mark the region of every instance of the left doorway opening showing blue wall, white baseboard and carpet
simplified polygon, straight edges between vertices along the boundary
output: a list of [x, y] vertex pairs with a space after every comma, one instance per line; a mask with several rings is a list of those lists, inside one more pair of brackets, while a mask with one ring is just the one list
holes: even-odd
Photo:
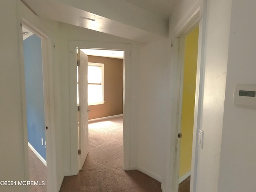
[[44, 88], [41, 38], [22, 28], [26, 90], [29, 173], [31, 181], [41, 185], [30, 186], [30, 191], [47, 191], [46, 136], [44, 118]]

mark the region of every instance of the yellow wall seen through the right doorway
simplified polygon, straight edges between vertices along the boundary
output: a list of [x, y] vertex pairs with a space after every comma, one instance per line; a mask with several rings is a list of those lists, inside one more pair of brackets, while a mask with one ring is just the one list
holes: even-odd
[[179, 178], [191, 170], [198, 30], [199, 27], [185, 38]]

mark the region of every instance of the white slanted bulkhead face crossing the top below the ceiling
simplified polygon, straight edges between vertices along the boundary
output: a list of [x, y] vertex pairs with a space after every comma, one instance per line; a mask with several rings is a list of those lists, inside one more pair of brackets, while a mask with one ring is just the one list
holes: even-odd
[[[119, 22], [137, 29], [151, 32], [163, 37], [168, 36], [168, 21], [156, 14], [152, 14], [125, 0], [56, 0], [65, 5], [79, 8], [97, 14], [115, 22]], [[131, 14], [132, 13], [132, 14]], [[97, 17], [96, 17], [97, 20]], [[102, 24], [105, 26], [105, 24]], [[108, 23], [112, 25], [111, 22]], [[104, 27], [104, 32], [111, 33], [111, 28]], [[121, 30], [121, 26], [119, 29]], [[106, 30], [108, 29], [108, 30]], [[97, 30], [97, 29], [96, 29]], [[98, 29], [99, 30], [99, 29]], [[132, 28], [130, 29], [132, 30]], [[113, 33], [112, 33], [113, 34]]]

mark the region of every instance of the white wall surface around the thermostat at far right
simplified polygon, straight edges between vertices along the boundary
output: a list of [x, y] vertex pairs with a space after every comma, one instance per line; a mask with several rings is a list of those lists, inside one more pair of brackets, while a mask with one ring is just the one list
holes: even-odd
[[256, 84], [254, 0], [232, 1], [218, 192], [255, 191], [256, 110], [234, 106], [236, 84]]

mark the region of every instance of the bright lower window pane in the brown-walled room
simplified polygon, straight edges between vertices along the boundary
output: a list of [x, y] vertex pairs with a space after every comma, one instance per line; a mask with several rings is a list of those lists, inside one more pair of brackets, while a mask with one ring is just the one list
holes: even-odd
[[88, 84], [88, 103], [101, 102], [102, 99], [102, 86]]

